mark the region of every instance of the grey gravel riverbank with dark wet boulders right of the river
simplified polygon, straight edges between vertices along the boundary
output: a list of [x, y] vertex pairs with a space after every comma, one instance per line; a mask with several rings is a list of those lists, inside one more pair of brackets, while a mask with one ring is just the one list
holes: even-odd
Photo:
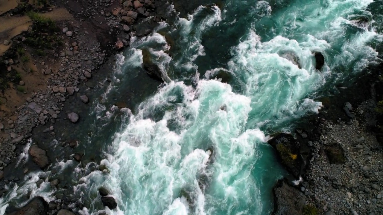
[[383, 214], [383, 145], [372, 129], [380, 124], [379, 68], [322, 99], [320, 113], [298, 124], [305, 129], [270, 140], [285, 144], [287, 152], [275, 148], [290, 173], [275, 185], [274, 214]]

